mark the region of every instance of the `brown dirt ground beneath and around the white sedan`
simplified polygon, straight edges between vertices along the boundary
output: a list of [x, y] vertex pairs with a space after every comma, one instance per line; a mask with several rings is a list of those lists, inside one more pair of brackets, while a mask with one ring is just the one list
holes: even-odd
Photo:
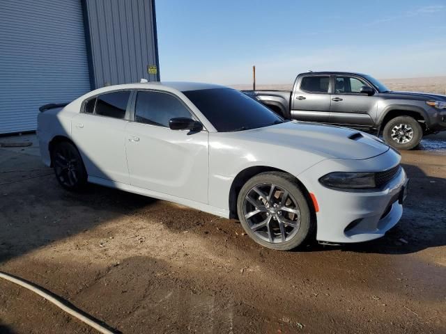
[[[36, 145], [0, 148], [0, 271], [122, 333], [446, 333], [445, 137], [403, 152], [403, 166], [410, 192], [385, 237], [283, 253], [238, 221], [64, 191]], [[0, 333], [94, 331], [0, 280]]]

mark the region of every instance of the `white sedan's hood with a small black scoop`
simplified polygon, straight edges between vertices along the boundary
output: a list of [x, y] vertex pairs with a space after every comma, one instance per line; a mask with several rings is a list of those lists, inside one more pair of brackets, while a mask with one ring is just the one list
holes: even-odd
[[385, 143], [364, 132], [295, 120], [238, 134], [255, 142], [287, 146], [327, 159], [368, 159], [389, 150]]

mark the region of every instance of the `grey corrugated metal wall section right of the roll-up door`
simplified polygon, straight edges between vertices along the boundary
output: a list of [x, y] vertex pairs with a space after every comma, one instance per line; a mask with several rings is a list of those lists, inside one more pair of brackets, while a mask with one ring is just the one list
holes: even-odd
[[93, 86], [138, 82], [158, 65], [153, 0], [84, 0], [88, 17]]

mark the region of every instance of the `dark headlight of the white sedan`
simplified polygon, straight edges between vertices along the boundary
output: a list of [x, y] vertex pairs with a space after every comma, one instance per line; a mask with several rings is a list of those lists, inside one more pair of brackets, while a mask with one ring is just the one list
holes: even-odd
[[319, 179], [324, 186], [332, 188], [375, 188], [375, 173], [334, 172]]

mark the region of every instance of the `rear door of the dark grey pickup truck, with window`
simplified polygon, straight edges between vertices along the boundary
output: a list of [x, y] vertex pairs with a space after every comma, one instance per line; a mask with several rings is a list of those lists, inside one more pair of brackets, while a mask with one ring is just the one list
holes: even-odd
[[291, 95], [291, 118], [328, 122], [330, 103], [330, 75], [304, 75]]

